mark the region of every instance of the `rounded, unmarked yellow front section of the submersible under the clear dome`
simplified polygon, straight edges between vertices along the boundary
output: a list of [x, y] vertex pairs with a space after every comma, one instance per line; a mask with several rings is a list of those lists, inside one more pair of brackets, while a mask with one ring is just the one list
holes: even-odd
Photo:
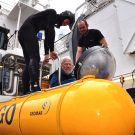
[[60, 120], [64, 135], [134, 135], [135, 106], [119, 85], [86, 80], [66, 94]]

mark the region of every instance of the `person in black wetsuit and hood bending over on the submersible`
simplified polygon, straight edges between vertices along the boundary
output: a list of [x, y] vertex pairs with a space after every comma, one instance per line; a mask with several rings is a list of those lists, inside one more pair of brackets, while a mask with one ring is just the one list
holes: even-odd
[[[57, 58], [57, 53], [54, 51], [54, 40], [55, 40], [55, 27], [69, 25], [71, 28], [74, 23], [74, 14], [70, 11], [64, 11], [60, 14], [54, 9], [47, 9], [45, 11], [34, 14], [23, 23], [19, 32], [18, 40], [22, 46], [25, 68], [23, 72], [23, 94], [30, 91], [39, 91], [39, 45], [37, 33], [40, 30], [45, 31], [45, 57], [44, 64], [47, 64], [49, 57], [51, 59]], [[49, 54], [50, 52], [50, 54]]]

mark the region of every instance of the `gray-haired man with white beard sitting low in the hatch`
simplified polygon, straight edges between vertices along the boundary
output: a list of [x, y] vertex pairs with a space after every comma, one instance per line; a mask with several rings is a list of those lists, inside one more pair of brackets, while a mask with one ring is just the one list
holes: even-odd
[[[73, 73], [73, 63], [69, 56], [65, 56], [61, 60], [61, 84], [70, 83], [76, 80], [74, 73]], [[53, 74], [51, 74], [50, 80], [50, 87], [55, 87], [60, 85], [59, 78], [58, 78], [58, 70], [56, 70]]]

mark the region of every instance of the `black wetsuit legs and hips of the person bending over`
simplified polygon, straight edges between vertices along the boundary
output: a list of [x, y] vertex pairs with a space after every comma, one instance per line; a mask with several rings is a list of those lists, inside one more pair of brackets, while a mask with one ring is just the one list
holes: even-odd
[[29, 91], [30, 85], [39, 84], [39, 44], [37, 34], [31, 24], [25, 24], [18, 32], [18, 40], [23, 49], [25, 67], [22, 82], [24, 93]]

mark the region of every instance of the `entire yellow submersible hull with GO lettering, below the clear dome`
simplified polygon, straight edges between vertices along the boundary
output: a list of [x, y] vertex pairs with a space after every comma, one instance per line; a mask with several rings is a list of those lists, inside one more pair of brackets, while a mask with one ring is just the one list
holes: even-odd
[[[134, 135], [134, 103], [111, 81], [87, 76], [50, 91], [0, 103], [0, 120], [3, 111], [13, 104], [13, 121], [10, 126], [5, 120], [0, 123], [0, 135]], [[1, 111], [5, 105], [7, 109]]]

